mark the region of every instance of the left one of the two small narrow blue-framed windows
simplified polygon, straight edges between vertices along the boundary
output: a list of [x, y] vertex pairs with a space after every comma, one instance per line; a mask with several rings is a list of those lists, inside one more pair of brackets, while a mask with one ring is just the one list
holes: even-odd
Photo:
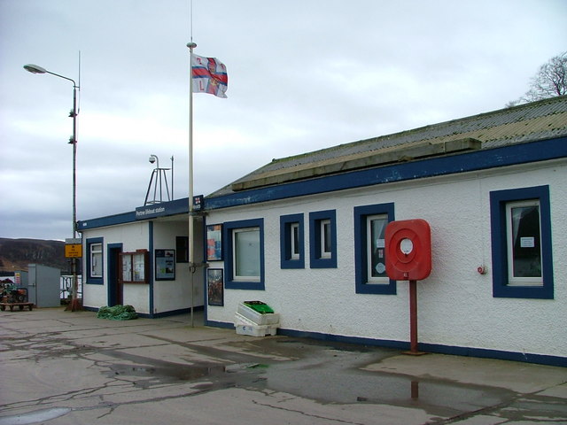
[[280, 217], [280, 264], [282, 268], [305, 268], [303, 214]]

